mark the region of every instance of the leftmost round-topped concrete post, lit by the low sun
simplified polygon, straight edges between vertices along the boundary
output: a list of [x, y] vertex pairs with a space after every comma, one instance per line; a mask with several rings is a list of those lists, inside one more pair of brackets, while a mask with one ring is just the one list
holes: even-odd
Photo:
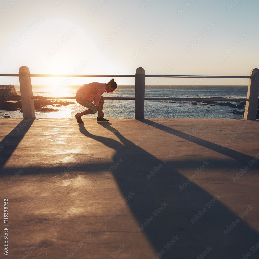
[[24, 119], [35, 119], [34, 100], [32, 99], [32, 83], [30, 77], [30, 69], [22, 66], [19, 69], [19, 81], [21, 91], [21, 107], [23, 109]]

